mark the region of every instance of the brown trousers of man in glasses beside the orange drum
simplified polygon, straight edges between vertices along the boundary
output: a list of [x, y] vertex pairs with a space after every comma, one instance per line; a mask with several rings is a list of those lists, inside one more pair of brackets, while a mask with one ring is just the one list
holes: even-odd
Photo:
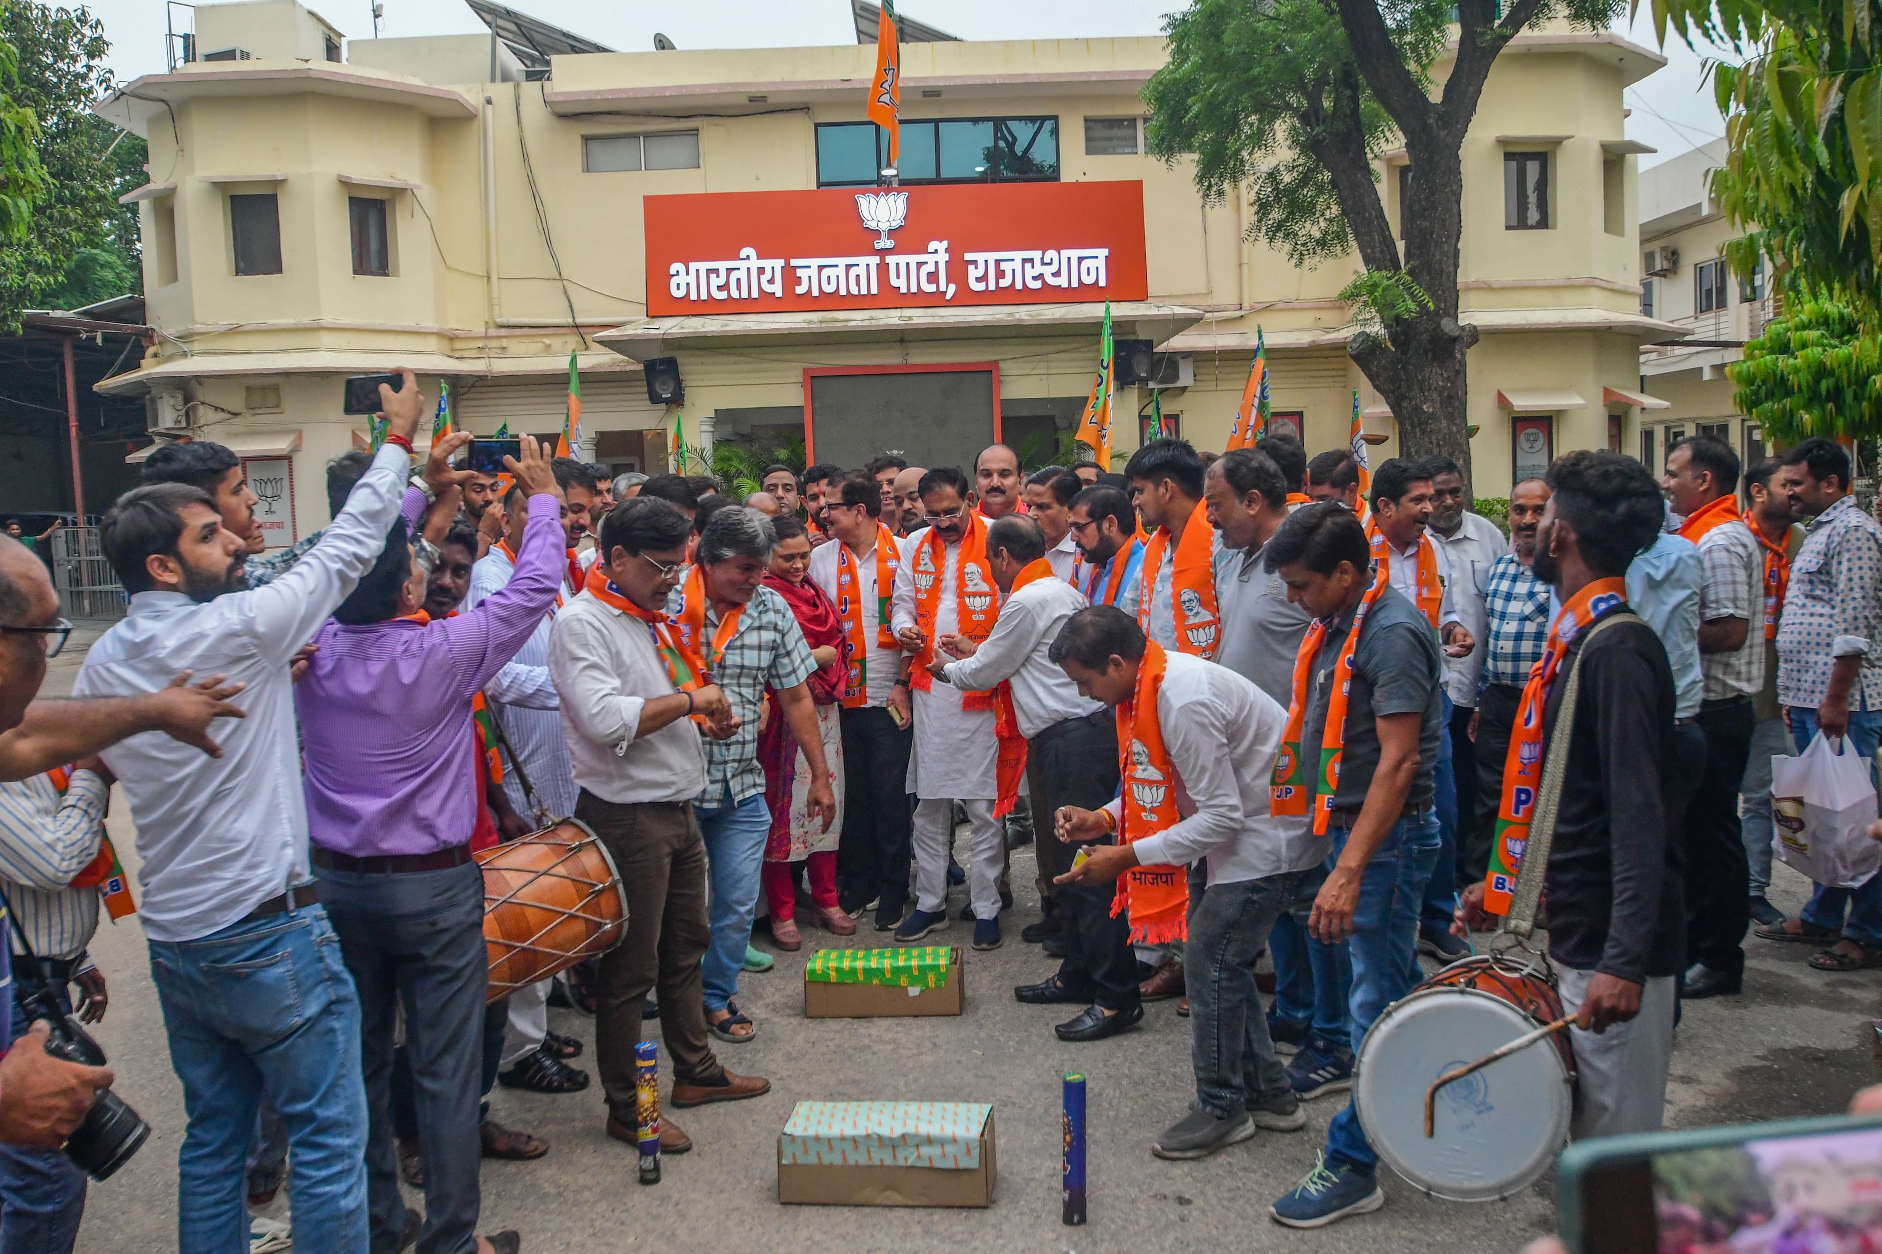
[[706, 921], [706, 844], [693, 805], [617, 805], [587, 790], [576, 818], [595, 829], [627, 891], [627, 936], [602, 955], [595, 987], [595, 1070], [610, 1111], [634, 1121], [634, 1045], [640, 1010], [661, 993], [661, 1034], [676, 1083], [721, 1083], [725, 1068], [706, 1034], [700, 959], [711, 940]]

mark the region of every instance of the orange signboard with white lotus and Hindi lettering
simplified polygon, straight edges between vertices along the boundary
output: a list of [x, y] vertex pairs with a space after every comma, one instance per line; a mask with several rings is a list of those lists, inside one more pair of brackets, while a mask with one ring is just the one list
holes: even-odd
[[647, 314], [1142, 301], [1142, 182], [646, 197]]

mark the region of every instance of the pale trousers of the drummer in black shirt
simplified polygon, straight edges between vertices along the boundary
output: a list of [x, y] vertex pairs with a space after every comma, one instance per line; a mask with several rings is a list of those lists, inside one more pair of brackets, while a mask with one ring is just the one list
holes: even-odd
[[[1562, 1013], [1581, 1010], [1592, 970], [1556, 966]], [[1590, 1136], [1658, 1132], [1666, 1119], [1666, 1074], [1673, 1064], [1673, 978], [1654, 976], [1641, 989], [1641, 1013], [1609, 1023], [1602, 1034], [1570, 1028], [1575, 1049], [1577, 1141]]]

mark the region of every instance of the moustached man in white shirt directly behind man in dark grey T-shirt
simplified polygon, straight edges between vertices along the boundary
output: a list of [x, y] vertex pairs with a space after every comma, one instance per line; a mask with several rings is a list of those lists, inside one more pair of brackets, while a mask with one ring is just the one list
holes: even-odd
[[[1419, 607], [1438, 630], [1443, 643], [1445, 688], [1449, 667], [1477, 651], [1475, 635], [1464, 626], [1457, 609], [1457, 579], [1445, 545], [1430, 536], [1432, 462], [1393, 457], [1372, 472], [1372, 538], [1374, 566], [1385, 564], [1391, 585]], [[1383, 540], [1383, 547], [1381, 541]], [[1479, 600], [1481, 607], [1481, 600]], [[1470, 957], [1470, 946], [1451, 934], [1451, 914], [1457, 910], [1457, 773], [1451, 760], [1451, 698], [1445, 692], [1438, 729], [1438, 865], [1425, 882], [1425, 904], [1419, 912], [1417, 944], [1440, 963]]]

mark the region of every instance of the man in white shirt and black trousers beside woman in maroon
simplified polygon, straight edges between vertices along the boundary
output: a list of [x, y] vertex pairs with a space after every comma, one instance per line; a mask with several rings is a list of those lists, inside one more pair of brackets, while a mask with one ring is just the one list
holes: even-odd
[[[881, 523], [875, 479], [851, 476], [824, 508], [839, 543], [811, 549], [811, 579], [843, 619], [860, 684], [845, 692], [843, 837], [837, 844], [837, 906], [862, 914], [875, 902], [875, 931], [901, 923], [909, 902], [915, 810], [909, 805], [909, 752], [915, 728], [901, 643], [885, 613], [896, 590], [905, 541]], [[881, 579], [881, 575], [888, 575]], [[860, 647], [858, 647], [860, 641]]]

